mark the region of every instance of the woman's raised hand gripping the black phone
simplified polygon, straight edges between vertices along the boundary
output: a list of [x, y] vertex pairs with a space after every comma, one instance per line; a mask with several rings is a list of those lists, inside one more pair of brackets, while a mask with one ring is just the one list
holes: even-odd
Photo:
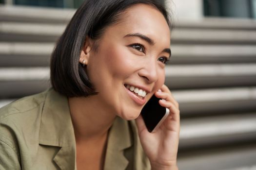
[[179, 108], [171, 91], [163, 85], [161, 92], [155, 93], [159, 104], [167, 107], [170, 114], [155, 133], [149, 133], [141, 115], [136, 119], [141, 145], [148, 156], [152, 170], [177, 170], [177, 150], [179, 140]]

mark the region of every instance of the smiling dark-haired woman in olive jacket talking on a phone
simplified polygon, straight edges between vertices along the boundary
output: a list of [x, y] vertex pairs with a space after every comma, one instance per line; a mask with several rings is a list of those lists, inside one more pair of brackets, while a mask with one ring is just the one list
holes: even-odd
[[[169, 27], [155, 0], [85, 0], [52, 54], [53, 88], [0, 109], [0, 169], [177, 170]], [[149, 133], [154, 94], [170, 116]]]

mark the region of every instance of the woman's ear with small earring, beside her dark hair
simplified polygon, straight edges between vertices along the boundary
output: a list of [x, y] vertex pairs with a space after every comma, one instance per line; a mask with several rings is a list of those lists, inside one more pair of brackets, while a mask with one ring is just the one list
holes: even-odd
[[92, 40], [86, 36], [83, 49], [80, 53], [79, 63], [87, 65], [90, 58], [90, 51], [92, 50]]

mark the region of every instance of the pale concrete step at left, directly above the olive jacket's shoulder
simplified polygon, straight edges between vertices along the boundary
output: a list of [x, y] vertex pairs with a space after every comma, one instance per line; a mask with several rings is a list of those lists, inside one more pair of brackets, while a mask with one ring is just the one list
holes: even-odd
[[0, 68], [0, 99], [20, 98], [50, 87], [49, 68]]

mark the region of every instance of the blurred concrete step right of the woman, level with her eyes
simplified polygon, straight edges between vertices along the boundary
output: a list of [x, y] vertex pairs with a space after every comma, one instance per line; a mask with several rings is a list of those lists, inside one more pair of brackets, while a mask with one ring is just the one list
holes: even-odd
[[170, 64], [256, 63], [256, 45], [173, 45]]

